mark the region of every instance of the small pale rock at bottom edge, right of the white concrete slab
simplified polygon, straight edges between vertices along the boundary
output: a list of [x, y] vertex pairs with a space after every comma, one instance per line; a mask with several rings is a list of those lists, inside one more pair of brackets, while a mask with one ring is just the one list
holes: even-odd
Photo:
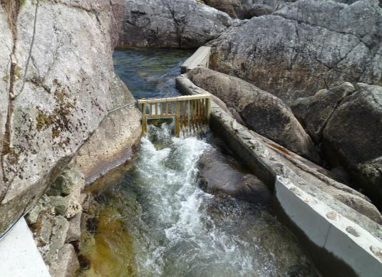
[[80, 269], [76, 251], [73, 245], [64, 244], [58, 251], [57, 261], [49, 268], [52, 277], [73, 277], [77, 276]]

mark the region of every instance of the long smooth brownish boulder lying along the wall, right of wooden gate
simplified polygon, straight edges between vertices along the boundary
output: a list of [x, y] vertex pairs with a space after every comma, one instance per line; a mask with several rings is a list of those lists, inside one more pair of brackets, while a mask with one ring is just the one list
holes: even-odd
[[234, 108], [252, 130], [310, 160], [319, 160], [309, 135], [279, 98], [244, 80], [207, 68], [195, 68], [187, 75], [195, 85]]

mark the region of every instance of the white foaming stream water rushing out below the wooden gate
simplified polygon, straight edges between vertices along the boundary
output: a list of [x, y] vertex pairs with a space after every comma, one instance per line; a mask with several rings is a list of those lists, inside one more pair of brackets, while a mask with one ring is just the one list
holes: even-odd
[[[173, 137], [172, 129], [150, 125], [135, 167], [105, 192], [106, 206], [118, 211], [132, 238], [133, 275], [316, 276], [269, 211], [200, 189], [198, 160], [212, 145], [198, 137]], [[120, 239], [110, 243], [114, 234], [104, 235], [114, 257], [130, 255]], [[130, 276], [123, 267], [127, 261], [122, 258], [113, 271]]]

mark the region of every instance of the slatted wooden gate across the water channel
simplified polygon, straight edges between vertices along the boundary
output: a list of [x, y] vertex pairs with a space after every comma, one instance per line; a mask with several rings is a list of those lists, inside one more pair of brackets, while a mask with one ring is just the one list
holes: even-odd
[[184, 127], [199, 128], [210, 123], [211, 95], [186, 95], [174, 98], [140, 99], [142, 105], [142, 135], [147, 132], [147, 120], [175, 118], [175, 136]]

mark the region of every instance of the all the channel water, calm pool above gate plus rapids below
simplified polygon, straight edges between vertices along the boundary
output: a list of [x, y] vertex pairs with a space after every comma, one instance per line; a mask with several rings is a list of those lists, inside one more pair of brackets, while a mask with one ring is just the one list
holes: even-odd
[[[187, 56], [120, 51], [115, 70], [136, 97], [163, 96], [166, 85], [174, 94]], [[89, 187], [98, 220], [81, 241], [83, 276], [319, 276], [269, 207], [200, 189], [198, 160], [217, 147], [212, 134], [177, 138], [171, 130], [150, 125], [134, 162]]]

